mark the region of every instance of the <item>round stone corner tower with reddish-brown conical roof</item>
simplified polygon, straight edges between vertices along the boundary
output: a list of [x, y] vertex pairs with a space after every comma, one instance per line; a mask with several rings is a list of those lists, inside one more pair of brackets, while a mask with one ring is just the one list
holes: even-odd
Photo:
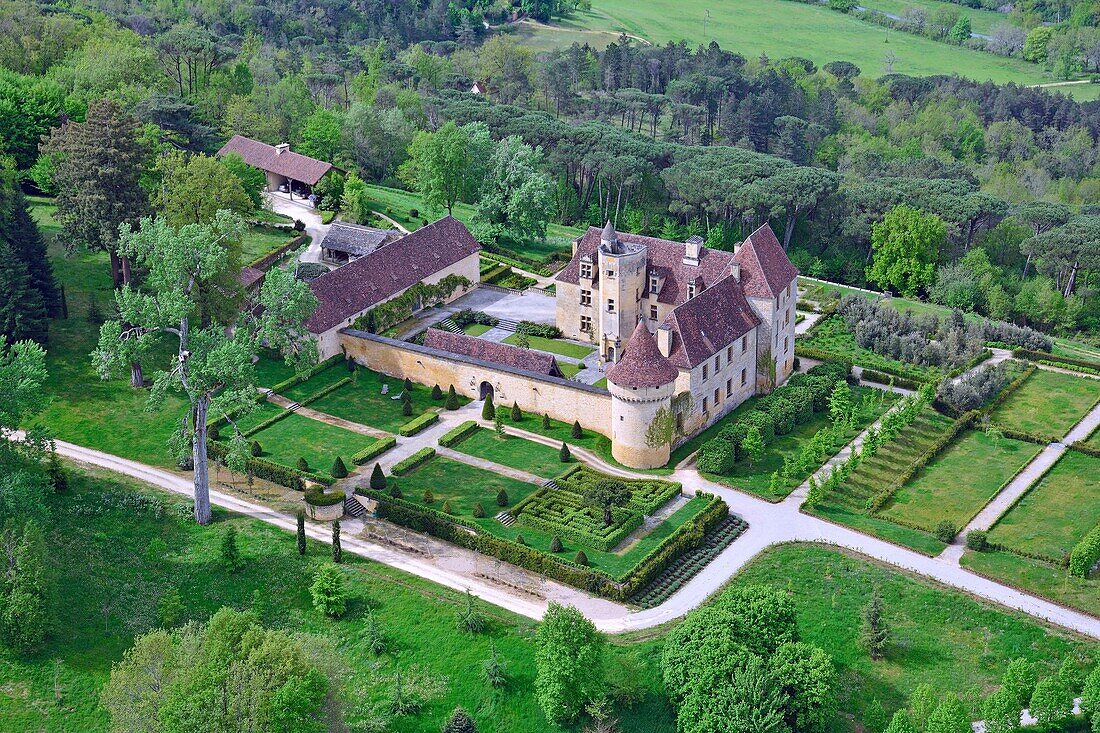
[[661, 354], [645, 320], [639, 320], [622, 358], [607, 370], [615, 460], [644, 469], [669, 462], [669, 441], [654, 438], [660, 434], [658, 424], [662, 419], [671, 426], [678, 374], [676, 368]]

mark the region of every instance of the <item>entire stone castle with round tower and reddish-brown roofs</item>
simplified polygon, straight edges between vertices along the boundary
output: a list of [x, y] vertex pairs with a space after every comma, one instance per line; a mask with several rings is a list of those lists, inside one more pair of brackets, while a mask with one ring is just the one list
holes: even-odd
[[733, 252], [610, 222], [573, 243], [557, 324], [608, 365], [616, 460], [663, 466], [678, 439], [791, 374], [798, 274], [768, 225]]

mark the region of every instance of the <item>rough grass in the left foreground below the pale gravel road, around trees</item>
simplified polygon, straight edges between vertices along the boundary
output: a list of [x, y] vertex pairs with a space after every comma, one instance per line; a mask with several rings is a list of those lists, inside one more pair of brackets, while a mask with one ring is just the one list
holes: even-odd
[[[74, 472], [70, 491], [53, 500], [54, 511], [66, 516], [74, 503], [98, 507], [105, 493], [133, 491], [169, 503], [182, 501], [114, 474]], [[230, 526], [239, 533], [245, 560], [237, 573], [224, 570], [220, 555]], [[134, 636], [161, 625], [157, 602], [167, 588], [182, 597], [182, 622], [204, 622], [223, 605], [252, 608], [257, 593], [266, 625], [331, 644], [336, 661], [344, 667], [341, 683], [353, 701], [364, 705], [387, 704], [398, 668], [406, 680], [414, 675], [439, 680], [440, 696], [420, 712], [398, 719], [395, 731], [438, 733], [440, 721], [457, 705], [474, 714], [479, 730], [563, 730], [546, 722], [535, 699], [535, 623], [481, 604], [490, 615], [490, 632], [464, 634], [454, 621], [464, 603], [458, 591], [344, 553], [351, 610], [343, 620], [329, 621], [314, 610], [309, 597], [312, 573], [329, 561], [328, 545], [310, 540], [301, 557], [293, 533], [217, 508], [209, 527], [172, 516], [157, 519], [151, 512], [109, 508], [79, 522], [52, 524], [48, 541], [56, 550], [52, 557], [64, 591], [65, 623], [34, 656], [0, 655], [0, 689], [7, 692], [0, 694], [3, 730], [107, 733], [100, 688]], [[369, 611], [391, 647], [380, 657], [369, 652], [365, 642]], [[455, 674], [480, 670], [491, 644], [508, 669], [509, 686], [502, 692], [492, 690], [480, 672]], [[672, 710], [660, 692], [659, 649], [660, 639], [607, 649], [608, 665], [626, 664], [636, 670], [644, 690], [639, 704], [616, 711], [624, 730], [675, 730]], [[351, 714], [349, 723], [361, 722]]]

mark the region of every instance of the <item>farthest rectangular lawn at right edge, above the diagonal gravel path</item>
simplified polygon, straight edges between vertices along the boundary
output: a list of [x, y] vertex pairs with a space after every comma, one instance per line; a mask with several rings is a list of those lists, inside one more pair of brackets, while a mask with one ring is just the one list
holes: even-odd
[[1013, 430], [1062, 438], [1100, 400], [1100, 380], [1036, 370], [993, 411], [992, 419]]

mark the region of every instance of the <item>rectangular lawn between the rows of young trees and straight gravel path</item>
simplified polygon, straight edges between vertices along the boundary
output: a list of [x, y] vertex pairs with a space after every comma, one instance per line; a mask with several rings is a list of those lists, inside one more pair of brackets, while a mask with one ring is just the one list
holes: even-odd
[[944, 519], [964, 527], [1040, 450], [1032, 442], [993, 440], [969, 430], [894, 492], [879, 514], [928, 530]]

